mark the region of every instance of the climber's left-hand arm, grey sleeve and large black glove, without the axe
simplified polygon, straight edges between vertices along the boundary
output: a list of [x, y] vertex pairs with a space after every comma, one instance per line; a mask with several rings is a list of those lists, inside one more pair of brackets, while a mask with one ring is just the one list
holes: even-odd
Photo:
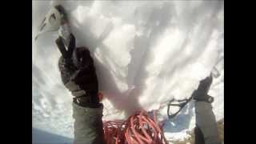
[[102, 104], [98, 100], [98, 79], [93, 59], [86, 48], [75, 48], [75, 39], [70, 34], [67, 50], [62, 36], [56, 40], [62, 53], [58, 67], [62, 82], [73, 98], [74, 143], [102, 144]]

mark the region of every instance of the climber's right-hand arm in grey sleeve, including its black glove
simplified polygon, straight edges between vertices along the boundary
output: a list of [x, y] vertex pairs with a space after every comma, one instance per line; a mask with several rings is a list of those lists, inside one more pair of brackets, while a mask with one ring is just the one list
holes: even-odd
[[196, 114], [195, 144], [220, 144], [217, 122], [211, 106], [213, 98], [207, 94], [211, 82], [212, 76], [202, 80], [198, 90], [193, 93]]

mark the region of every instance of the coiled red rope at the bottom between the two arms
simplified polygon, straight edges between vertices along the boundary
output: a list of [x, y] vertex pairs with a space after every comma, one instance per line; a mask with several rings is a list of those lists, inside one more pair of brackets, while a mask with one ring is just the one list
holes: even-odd
[[106, 144], [164, 144], [168, 143], [162, 124], [158, 124], [146, 111], [135, 112], [126, 121], [103, 122]]

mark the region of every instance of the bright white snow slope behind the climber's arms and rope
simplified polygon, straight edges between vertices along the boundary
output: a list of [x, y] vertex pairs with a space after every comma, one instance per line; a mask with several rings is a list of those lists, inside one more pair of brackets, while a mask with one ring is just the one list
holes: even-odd
[[[224, 4], [222, 1], [33, 1], [33, 126], [73, 138], [71, 94], [58, 72], [57, 33], [34, 36], [51, 4], [70, 14], [77, 46], [94, 58], [104, 119], [124, 119], [134, 110], [158, 110], [186, 98], [216, 66], [210, 94], [214, 114], [224, 118]], [[217, 65], [216, 65], [217, 64]], [[186, 138], [194, 127], [194, 103], [166, 120], [169, 139]]]

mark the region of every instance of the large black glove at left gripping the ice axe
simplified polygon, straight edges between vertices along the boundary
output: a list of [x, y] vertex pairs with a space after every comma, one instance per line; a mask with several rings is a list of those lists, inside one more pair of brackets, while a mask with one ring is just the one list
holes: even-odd
[[74, 48], [75, 39], [72, 34], [68, 50], [65, 49], [61, 37], [56, 40], [56, 44], [62, 53], [58, 61], [62, 82], [71, 91], [74, 102], [79, 106], [100, 106], [98, 78], [90, 51], [85, 47]]

